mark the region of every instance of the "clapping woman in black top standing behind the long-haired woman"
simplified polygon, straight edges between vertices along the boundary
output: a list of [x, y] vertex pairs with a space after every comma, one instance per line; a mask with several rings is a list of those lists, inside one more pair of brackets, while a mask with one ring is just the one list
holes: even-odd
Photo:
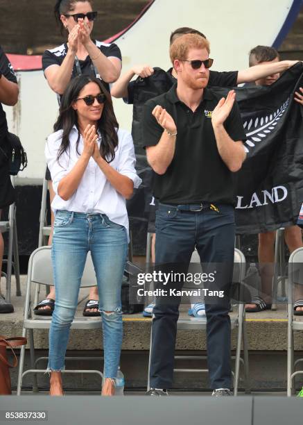
[[[122, 57], [119, 47], [114, 43], [104, 43], [92, 38], [92, 31], [98, 12], [93, 9], [92, 0], [57, 0], [55, 1], [55, 19], [62, 35], [67, 41], [53, 49], [47, 49], [42, 56], [42, 68], [47, 83], [58, 95], [67, 88], [69, 81], [77, 75], [100, 76], [105, 89], [110, 91], [109, 83], [120, 76]], [[101, 24], [102, 25], [102, 24]], [[55, 197], [51, 174], [46, 169], [45, 178], [49, 185], [51, 202]], [[51, 234], [53, 238], [53, 213], [51, 214]], [[55, 306], [55, 290], [51, 287], [46, 299], [35, 306], [35, 315], [49, 316]], [[89, 299], [85, 303], [84, 316], [98, 316], [98, 291], [92, 287]]]

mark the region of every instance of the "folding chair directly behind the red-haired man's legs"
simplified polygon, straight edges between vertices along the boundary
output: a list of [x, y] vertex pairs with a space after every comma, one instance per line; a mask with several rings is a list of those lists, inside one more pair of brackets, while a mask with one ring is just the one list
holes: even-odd
[[[245, 277], [245, 257], [239, 249], [234, 249], [234, 263], [237, 267], [234, 267], [234, 278], [235, 282], [242, 282]], [[206, 331], [207, 320], [206, 317], [199, 318], [180, 318], [177, 323], [177, 330], [184, 331]], [[237, 343], [236, 343], [236, 356], [232, 357], [235, 360], [234, 372], [232, 372], [234, 377], [234, 395], [238, 394], [239, 387], [239, 372], [240, 372], [240, 363], [244, 367], [244, 376], [245, 376], [245, 392], [250, 393], [249, 383], [248, 383], [248, 339], [246, 334], [246, 324], [245, 324], [245, 308], [243, 303], [239, 303], [238, 314], [236, 317], [231, 318], [231, 327], [232, 329], [237, 328]], [[150, 351], [148, 359], [148, 385], [147, 389], [150, 390], [150, 357], [152, 351], [152, 328], [150, 330]], [[241, 342], [243, 342], [243, 358], [241, 358]], [[206, 356], [175, 356], [176, 360], [206, 360]], [[208, 369], [173, 369], [174, 372], [208, 372]]]

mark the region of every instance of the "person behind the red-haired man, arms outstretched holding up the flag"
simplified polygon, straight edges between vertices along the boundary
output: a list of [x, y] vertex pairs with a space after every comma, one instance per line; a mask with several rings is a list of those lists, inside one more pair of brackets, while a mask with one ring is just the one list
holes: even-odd
[[[205, 38], [205, 35], [200, 31], [189, 28], [181, 27], [175, 29], [171, 33], [169, 44], [171, 44], [184, 34], [198, 34]], [[247, 69], [241, 69], [240, 71], [230, 72], [209, 72], [208, 86], [218, 86], [225, 88], [235, 87], [237, 84], [247, 83], [249, 81], [255, 81], [263, 76], [275, 74], [275, 72], [283, 72], [292, 65], [296, 60], [283, 60], [279, 63], [271, 63], [264, 67], [256, 65]], [[137, 76], [133, 81], [132, 78]], [[139, 174], [142, 172], [143, 185], [146, 186], [146, 203], [147, 210], [149, 213], [148, 217], [148, 232], [155, 233], [155, 210], [157, 209], [157, 201], [149, 193], [150, 181], [153, 179], [153, 174], [146, 172], [146, 158], [144, 152], [144, 138], [142, 135], [141, 117], [144, 107], [144, 103], [153, 97], [159, 96], [159, 94], [167, 92], [173, 84], [176, 83], [177, 74], [175, 69], [172, 67], [168, 71], [164, 71], [159, 67], [151, 67], [150, 65], [134, 65], [125, 74], [119, 77], [111, 88], [111, 94], [116, 98], [123, 98], [125, 103], [133, 104], [133, 116], [132, 116], [132, 138], [135, 144], [135, 152], [137, 156], [137, 170]], [[155, 238], [153, 238], [153, 247], [151, 251], [152, 263], [155, 260]], [[202, 300], [200, 300], [202, 301]], [[144, 308], [144, 316], [152, 317], [154, 303], [150, 303]], [[193, 313], [195, 312], [195, 313]], [[191, 313], [198, 317], [200, 314], [205, 313], [204, 304], [191, 303]]]

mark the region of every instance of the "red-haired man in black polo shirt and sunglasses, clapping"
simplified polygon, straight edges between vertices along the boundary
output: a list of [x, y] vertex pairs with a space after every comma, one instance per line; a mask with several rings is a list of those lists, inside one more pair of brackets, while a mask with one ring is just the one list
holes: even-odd
[[[230, 299], [234, 265], [232, 172], [245, 159], [245, 133], [235, 93], [220, 99], [207, 89], [209, 42], [196, 34], [173, 42], [171, 61], [178, 86], [144, 106], [148, 163], [155, 171], [155, 262], [187, 267], [196, 247], [203, 263], [220, 265], [216, 289], [225, 297], [207, 299], [207, 351], [215, 396], [230, 395]], [[150, 395], [166, 395], [173, 381], [178, 303], [158, 299], [153, 310]]]

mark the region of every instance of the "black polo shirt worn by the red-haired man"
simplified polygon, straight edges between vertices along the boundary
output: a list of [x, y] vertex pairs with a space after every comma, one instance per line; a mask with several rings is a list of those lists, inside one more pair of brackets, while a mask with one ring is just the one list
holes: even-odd
[[[205, 89], [203, 98], [193, 113], [178, 99], [176, 85], [167, 93], [150, 99], [144, 106], [143, 134], [146, 147], [155, 146], [163, 133], [152, 115], [161, 105], [173, 117], [177, 126], [175, 155], [166, 173], [155, 173], [154, 196], [162, 203], [227, 203], [234, 204], [232, 172], [221, 159], [211, 125], [220, 94]], [[234, 141], [245, 140], [237, 103], [225, 121], [225, 129]]]

